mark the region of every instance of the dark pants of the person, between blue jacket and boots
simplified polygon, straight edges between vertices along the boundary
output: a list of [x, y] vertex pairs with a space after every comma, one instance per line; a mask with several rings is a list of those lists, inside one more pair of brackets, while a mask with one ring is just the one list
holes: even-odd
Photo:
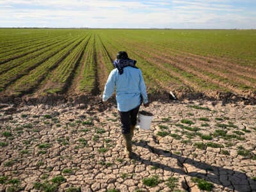
[[136, 125], [139, 109], [140, 106], [126, 112], [119, 111], [122, 134], [129, 134], [131, 125]]

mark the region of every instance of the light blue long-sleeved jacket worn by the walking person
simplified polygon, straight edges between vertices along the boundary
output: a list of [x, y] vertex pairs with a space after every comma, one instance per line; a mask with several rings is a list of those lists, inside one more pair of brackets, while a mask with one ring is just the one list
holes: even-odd
[[148, 102], [145, 82], [139, 68], [125, 67], [122, 75], [117, 68], [113, 69], [108, 76], [102, 100], [108, 100], [115, 88], [118, 111], [130, 111], [138, 107], [141, 102], [140, 95], [144, 104]]

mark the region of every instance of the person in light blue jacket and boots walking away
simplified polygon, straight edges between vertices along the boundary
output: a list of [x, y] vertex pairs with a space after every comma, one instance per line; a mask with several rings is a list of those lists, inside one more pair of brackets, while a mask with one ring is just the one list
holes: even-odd
[[148, 97], [145, 82], [136, 61], [128, 57], [127, 52], [120, 51], [113, 62], [114, 69], [106, 82], [102, 101], [106, 102], [116, 90], [117, 108], [121, 120], [121, 131], [124, 138], [125, 154], [132, 157], [131, 140], [141, 103], [147, 108]]

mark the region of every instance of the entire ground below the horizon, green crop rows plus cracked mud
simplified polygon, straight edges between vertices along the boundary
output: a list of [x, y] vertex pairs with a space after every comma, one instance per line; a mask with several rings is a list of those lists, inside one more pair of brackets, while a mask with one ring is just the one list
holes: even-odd
[[[99, 97], [118, 51], [154, 114], [132, 159]], [[0, 29], [0, 191], [256, 191], [255, 53], [255, 30]]]

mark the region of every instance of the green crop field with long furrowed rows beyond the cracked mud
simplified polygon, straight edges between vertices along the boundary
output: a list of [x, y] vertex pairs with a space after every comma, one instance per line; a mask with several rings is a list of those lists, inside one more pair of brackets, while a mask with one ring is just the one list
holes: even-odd
[[255, 30], [0, 29], [0, 40], [3, 102], [99, 95], [118, 51], [154, 97], [255, 99]]

